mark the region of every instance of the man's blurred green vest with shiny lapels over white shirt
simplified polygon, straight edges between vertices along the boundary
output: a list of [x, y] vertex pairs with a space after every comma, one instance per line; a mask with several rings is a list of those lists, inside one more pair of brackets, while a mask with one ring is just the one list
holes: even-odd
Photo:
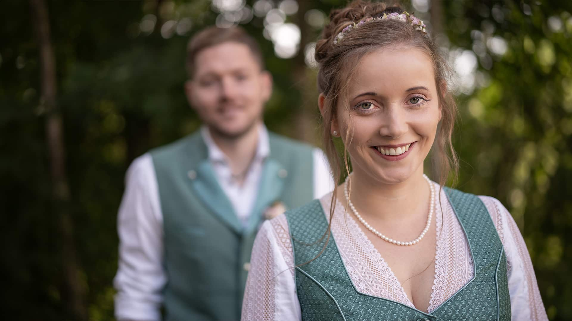
[[164, 229], [165, 320], [239, 320], [263, 211], [313, 198], [312, 147], [269, 133], [247, 227], [217, 182], [200, 133], [151, 151]]

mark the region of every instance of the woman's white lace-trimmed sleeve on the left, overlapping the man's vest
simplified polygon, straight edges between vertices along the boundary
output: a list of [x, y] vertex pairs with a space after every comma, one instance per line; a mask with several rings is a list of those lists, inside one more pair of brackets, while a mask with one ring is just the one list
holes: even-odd
[[301, 320], [286, 216], [264, 222], [252, 248], [241, 320]]

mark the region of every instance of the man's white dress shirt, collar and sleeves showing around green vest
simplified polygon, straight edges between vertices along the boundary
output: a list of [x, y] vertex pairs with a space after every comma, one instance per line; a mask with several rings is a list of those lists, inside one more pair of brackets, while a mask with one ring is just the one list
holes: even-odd
[[[256, 200], [264, 160], [270, 154], [268, 131], [260, 126], [256, 154], [240, 186], [233, 181], [227, 157], [206, 127], [201, 128], [201, 135], [217, 180], [245, 224]], [[333, 180], [324, 153], [316, 148], [312, 156], [313, 197], [320, 198], [333, 190]], [[117, 289], [115, 316], [119, 320], [160, 320], [162, 290], [167, 281], [163, 267], [163, 216], [149, 153], [133, 160], [125, 184], [117, 222], [120, 246], [113, 280]]]

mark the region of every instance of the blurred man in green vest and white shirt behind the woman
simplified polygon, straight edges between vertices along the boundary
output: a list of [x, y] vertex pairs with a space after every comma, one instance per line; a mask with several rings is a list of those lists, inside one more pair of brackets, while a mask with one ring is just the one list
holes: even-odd
[[[118, 217], [119, 320], [238, 320], [264, 219], [333, 188], [319, 149], [268, 133], [256, 41], [211, 27], [191, 39], [185, 92], [204, 125], [134, 160]], [[275, 213], [275, 214], [272, 214]], [[266, 215], [265, 215], [266, 214]]]

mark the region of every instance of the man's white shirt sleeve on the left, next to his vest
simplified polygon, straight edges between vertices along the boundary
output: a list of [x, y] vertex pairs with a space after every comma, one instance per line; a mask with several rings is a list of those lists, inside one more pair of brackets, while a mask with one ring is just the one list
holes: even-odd
[[117, 219], [119, 260], [113, 284], [118, 320], [155, 321], [166, 276], [163, 262], [162, 214], [150, 154], [133, 161]]

